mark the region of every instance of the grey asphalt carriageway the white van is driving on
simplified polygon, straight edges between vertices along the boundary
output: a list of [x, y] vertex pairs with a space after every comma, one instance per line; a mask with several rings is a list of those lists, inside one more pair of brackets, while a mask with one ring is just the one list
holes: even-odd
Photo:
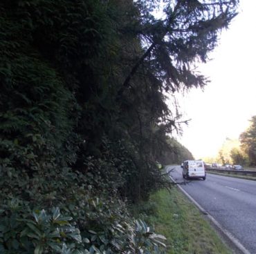
[[[170, 173], [183, 182], [182, 168]], [[208, 173], [181, 186], [203, 209], [234, 235], [250, 253], [256, 253], [256, 182]]]

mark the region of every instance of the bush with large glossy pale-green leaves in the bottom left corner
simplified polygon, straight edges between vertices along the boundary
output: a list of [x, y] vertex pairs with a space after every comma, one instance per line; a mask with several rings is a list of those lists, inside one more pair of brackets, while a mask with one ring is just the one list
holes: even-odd
[[68, 253], [75, 243], [82, 243], [80, 231], [73, 226], [71, 217], [63, 217], [59, 208], [53, 208], [51, 215], [46, 211], [29, 213], [21, 211], [17, 201], [12, 199], [1, 213], [1, 253]]

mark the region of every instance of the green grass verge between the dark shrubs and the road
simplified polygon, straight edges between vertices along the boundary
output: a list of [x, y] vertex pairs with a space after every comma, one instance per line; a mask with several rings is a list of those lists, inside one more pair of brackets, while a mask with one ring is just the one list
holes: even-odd
[[146, 217], [156, 232], [167, 237], [168, 254], [232, 253], [221, 242], [199, 210], [176, 188], [152, 195], [148, 204], [154, 211]]

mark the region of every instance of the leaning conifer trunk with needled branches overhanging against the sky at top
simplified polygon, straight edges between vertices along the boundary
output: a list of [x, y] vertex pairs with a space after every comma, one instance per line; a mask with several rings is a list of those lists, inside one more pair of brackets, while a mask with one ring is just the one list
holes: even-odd
[[219, 32], [228, 28], [236, 16], [239, 1], [163, 1], [164, 19], [150, 14], [146, 2], [136, 1], [142, 14], [138, 35], [144, 53], [131, 68], [118, 95], [131, 86], [132, 77], [145, 62], [154, 66], [166, 91], [205, 86], [207, 80], [194, 71], [194, 64], [208, 60], [208, 53], [217, 46]]

